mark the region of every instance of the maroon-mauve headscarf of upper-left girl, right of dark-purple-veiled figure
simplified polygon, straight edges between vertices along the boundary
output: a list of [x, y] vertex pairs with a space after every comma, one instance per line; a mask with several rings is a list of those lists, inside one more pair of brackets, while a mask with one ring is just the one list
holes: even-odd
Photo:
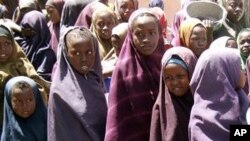
[[[48, 0], [46, 3], [46, 6], [54, 7], [58, 11], [60, 17], [61, 17], [63, 5], [64, 5], [63, 0]], [[49, 30], [51, 33], [50, 45], [51, 45], [51, 48], [54, 50], [54, 52], [57, 54], [57, 47], [58, 47], [59, 34], [60, 34], [60, 22], [53, 24], [51, 21], [49, 21], [48, 25], [49, 25]]]

